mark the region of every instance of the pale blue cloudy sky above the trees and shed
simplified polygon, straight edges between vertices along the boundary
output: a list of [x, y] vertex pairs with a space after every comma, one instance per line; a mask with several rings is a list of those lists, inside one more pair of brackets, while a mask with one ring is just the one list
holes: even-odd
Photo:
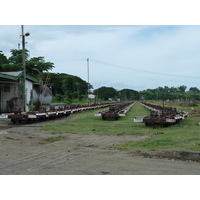
[[[30, 57], [53, 62], [52, 72], [88, 80], [94, 89], [200, 88], [200, 26], [25, 25]], [[21, 25], [0, 26], [0, 50], [21, 43]]]

